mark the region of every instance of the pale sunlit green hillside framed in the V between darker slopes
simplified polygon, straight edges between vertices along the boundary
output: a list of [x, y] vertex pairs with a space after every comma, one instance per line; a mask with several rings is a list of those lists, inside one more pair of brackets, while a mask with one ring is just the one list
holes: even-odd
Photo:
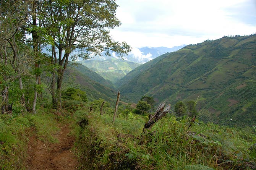
[[117, 58], [109, 58], [104, 61], [85, 60], [80, 61], [80, 63], [113, 83], [123, 78], [134, 68], [141, 65], [139, 63], [128, 62]]

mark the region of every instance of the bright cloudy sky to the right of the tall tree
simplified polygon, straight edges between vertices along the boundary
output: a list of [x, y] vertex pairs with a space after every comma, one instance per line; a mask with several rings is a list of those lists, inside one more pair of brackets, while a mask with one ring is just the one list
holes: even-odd
[[256, 0], [117, 0], [110, 31], [133, 48], [197, 44], [256, 33]]

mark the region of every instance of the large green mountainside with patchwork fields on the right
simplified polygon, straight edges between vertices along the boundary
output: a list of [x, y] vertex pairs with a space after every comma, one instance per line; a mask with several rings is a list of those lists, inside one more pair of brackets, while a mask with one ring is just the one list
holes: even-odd
[[117, 85], [133, 102], [143, 95], [172, 105], [198, 98], [198, 109], [209, 113], [205, 121], [255, 126], [256, 36], [187, 45], [139, 66]]

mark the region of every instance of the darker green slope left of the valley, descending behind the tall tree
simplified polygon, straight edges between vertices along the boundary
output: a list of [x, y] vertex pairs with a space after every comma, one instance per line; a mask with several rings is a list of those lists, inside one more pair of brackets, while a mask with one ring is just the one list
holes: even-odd
[[[67, 87], [76, 87], [83, 91], [86, 91], [87, 97], [89, 100], [94, 99], [105, 99], [105, 100], [114, 100], [116, 98], [116, 93], [112, 88], [107, 87], [105, 84], [109, 84], [108, 81], [101, 81], [102, 83], [105, 82], [105, 84], [101, 84], [97, 82], [96, 80], [103, 79], [100, 78], [97, 73], [94, 73], [93, 71], [90, 73], [91, 75], [87, 74], [86, 72], [82, 72], [84, 70], [87, 70], [87, 68], [83, 68], [85, 66], [69, 66], [65, 72], [64, 78], [63, 78], [63, 88], [65, 89]], [[88, 71], [88, 70], [87, 70]], [[94, 76], [94, 80], [89, 78]]]

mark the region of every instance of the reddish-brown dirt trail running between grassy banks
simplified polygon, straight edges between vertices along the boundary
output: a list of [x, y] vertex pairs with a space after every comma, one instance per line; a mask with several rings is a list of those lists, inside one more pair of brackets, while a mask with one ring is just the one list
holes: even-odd
[[78, 161], [71, 151], [75, 137], [69, 136], [68, 125], [60, 127], [57, 134], [59, 143], [44, 143], [31, 136], [28, 144], [28, 170], [76, 170]]

